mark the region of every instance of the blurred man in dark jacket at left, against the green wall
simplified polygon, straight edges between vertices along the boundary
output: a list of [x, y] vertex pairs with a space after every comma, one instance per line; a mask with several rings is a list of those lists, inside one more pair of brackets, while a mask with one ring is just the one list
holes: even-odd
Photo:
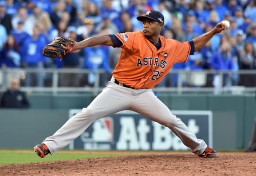
[[10, 88], [7, 89], [0, 101], [1, 108], [28, 108], [30, 103], [26, 94], [19, 90], [20, 81], [18, 78], [12, 78]]

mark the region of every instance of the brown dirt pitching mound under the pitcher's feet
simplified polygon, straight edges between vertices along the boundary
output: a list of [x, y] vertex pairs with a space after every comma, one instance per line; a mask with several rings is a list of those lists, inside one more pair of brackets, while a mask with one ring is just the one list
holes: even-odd
[[[43, 160], [43, 159], [42, 159]], [[256, 153], [219, 153], [200, 158], [191, 153], [154, 153], [83, 160], [11, 164], [0, 175], [255, 175]]]

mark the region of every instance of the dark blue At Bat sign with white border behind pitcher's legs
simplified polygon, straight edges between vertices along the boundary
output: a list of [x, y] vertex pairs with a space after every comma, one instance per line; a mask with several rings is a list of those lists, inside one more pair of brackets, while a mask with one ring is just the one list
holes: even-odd
[[[81, 110], [70, 110], [69, 116]], [[206, 144], [212, 144], [211, 111], [172, 111]], [[122, 111], [94, 121], [69, 149], [188, 150], [167, 127], [133, 111]]]

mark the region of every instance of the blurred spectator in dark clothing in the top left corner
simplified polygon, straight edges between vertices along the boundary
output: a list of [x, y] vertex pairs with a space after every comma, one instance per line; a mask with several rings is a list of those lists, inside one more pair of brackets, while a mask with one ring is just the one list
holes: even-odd
[[12, 16], [6, 13], [6, 2], [1, 0], [0, 1], [0, 24], [2, 24], [7, 34], [9, 34], [12, 30]]

